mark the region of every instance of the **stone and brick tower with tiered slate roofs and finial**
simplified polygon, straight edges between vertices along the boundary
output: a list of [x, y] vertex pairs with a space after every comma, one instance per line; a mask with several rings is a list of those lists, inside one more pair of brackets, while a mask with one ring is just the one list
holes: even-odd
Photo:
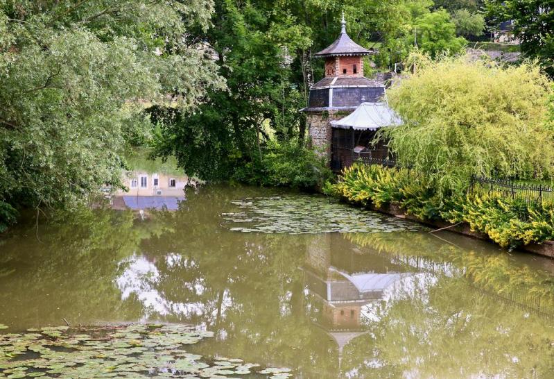
[[312, 146], [320, 149], [329, 162], [333, 139], [331, 121], [349, 115], [363, 101], [377, 102], [385, 94], [383, 83], [363, 76], [363, 58], [373, 52], [348, 36], [344, 13], [341, 24], [335, 42], [314, 54], [325, 60], [325, 77], [310, 87], [308, 107], [302, 110], [306, 112]]

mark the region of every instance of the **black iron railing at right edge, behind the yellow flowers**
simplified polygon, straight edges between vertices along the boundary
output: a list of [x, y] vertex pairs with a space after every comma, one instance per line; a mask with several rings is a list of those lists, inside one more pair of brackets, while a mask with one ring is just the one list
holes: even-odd
[[499, 192], [510, 199], [522, 199], [528, 203], [554, 201], [554, 190], [551, 187], [515, 183], [512, 180], [473, 176], [469, 190], [470, 192]]

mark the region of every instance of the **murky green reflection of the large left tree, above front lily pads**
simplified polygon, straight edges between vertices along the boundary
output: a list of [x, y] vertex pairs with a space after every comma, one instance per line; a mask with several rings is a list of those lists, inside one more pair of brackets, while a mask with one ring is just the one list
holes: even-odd
[[[149, 226], [134, 225], [130, 212], [83, 208], [40, 226], [12, 230], [0, 254], [0, 317], [11, 326], [89, 323], [135, 318], [113, 285], [121, 258], [137, 249]], [[17, 235], [16, 235], [17, 233]], [[118, 316], [119, 315], [119, 316]]]

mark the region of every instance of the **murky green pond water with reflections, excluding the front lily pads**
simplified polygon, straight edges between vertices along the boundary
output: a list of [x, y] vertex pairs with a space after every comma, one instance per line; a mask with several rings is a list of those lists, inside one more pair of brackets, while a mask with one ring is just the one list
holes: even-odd
[[87, 209], [38, 230], [29, 220], [0, 239], [0, 332], [184, 324], [213, 332], [190, 353], [294, 378], [551, 375], [553, 261], [429, 232], [322, 196], [227, 186], [144, 221]]

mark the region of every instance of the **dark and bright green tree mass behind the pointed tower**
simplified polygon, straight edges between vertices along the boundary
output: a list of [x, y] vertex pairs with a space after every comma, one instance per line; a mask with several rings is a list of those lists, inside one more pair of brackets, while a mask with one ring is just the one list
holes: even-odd
[[447, 13], [431, 12], [432, 6], [431, 0], [216, 0], [211, 28], [193, 38], [214, 48], [228, 90], [209, 92], [191, 112], [156, 108], [157, 154], [175, 155], [185, 171], [206, 179], [253, 169], [271, 144], [303, 140], [299, 110], [323, 76], [323, 62], [312, 56], [340, 33], [342, 10], [349, 35], [378, 47], [374, 60], [386, 70], [413, 49], [415, 25], [422, 50], [460, 51], [465, 40], [456, 37]]

